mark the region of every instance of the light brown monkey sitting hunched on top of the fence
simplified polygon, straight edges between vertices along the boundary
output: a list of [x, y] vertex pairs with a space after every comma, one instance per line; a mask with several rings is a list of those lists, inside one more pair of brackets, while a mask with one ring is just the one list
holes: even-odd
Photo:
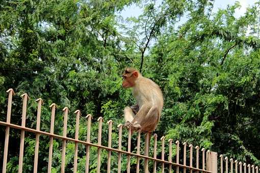
[[122, 87], [133, 88], [137, 104], [124, 108], [125, 127], [151, 133], [157, 127], [164, 104], [163, 93], [154, 81], [143, 77], [135, 68], [125, 68]]

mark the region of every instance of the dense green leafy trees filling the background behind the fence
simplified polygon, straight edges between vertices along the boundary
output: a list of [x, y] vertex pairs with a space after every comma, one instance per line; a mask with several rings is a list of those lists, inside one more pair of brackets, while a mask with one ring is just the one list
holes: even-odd
[[[122, 21], [120, 12], [137, 4], [138, 18]], [[123, 123], [122, 109], [135, 101], [121, 88], [125, 66], [157, 82], [165, 106], [155, 131], [225, 156], [260, 165], [260, 2], [234, 17], [239, 3], [212, 13], [213, 1], [1, 1], [0, 121], [6, 121], [7, 94], [13, 88], [11, 122], [21, 123], [22, 93], [30, 96], [27, 126], [36, 128], [37, 98], [44, 100], [41, 130], [49, 131], [51, 103], [58, 105], [55, 133], [62, 135], [62, 108], [68, 106], [68, 136], [74, 137], [80, 109], [80, 139], [86, 140], [88, 113], [94, 118], [91, 140], [97, 141], [97, 118]], [[178, 26], [179, 19], [187, 17]], [[127, 22], [127, 24], [126, 24]], [[102, 144], [107, 146], [107, 125]], [[11, 130], [8, 171], [18, 169], [20, 132]], [[5, 127], [0, 127], [0, 160]], [[24, 172], [31, 172], [35, 135], [25, 133]], [[124, 133], [126, 140], [126, 133]], [[133, 137], [134, 138], [134, 137]], [[48, 141], [40, 137], [38, 170], [46, 172]], [[133, 143], [136, 143], [133, 140]], [[124, 144], [124, 149], [126, 147]], [[79, 146], [78, 169], [85, 168], [85, 146]], [[160, 151], [159, 151], [160, 153]], [[66, 172], [73, 170], [74, 144], [68, 142]], [[96, 149], [90, 170], [96, 171]], [[116, 171], [117, 155], [112, 167]], [[61, 141], [54, 142], [53, 172], [60, 172]], [[124, 156], [125, 157], [125, 156]], [[107, 152], [102, 151], [106, 170]], [[132, 160], [133, 165], [135, 160]], [[0, 166], [2, 164], [0, 163]], [[122, 160], [126, 168], [126, 159]], [[1, 167], [0, 167], [1, 169]], [[133, 166], [134, 169], [134, 166]]]

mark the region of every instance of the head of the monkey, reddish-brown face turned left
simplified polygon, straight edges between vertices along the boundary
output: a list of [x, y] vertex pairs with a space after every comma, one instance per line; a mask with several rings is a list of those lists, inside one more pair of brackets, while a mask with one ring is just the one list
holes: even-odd
[[123, 82], [122, 82], [123, 88], [127, 89], [127, 88], [135, 86], [136, 79], [140, 75], [141, 74], [139, 73], [139, 71], [134, 69], [134, 68], [125, 68], [124, 73], [122, 75], [122, 77], [123, 77]]

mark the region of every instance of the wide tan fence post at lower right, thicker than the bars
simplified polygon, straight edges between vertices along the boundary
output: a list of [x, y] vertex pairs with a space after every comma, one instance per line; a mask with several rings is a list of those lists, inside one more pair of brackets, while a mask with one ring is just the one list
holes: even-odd
[[218, 173], [218, 153], [207, 151], [206, 154], [206, 168], [212, 173]]

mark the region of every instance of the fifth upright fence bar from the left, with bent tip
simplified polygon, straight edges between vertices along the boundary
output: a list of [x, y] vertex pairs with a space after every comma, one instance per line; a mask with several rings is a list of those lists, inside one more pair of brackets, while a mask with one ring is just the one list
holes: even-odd
[[[68, 107], [62, 109], [64, 111], [63, 121], [63, 137], [67, 137], [67, 122], [68, 122]], [[66, 155], [66, 139], [62, 140], [62, 155], [61, 155], [61, 172], [65, 172], [65, 155]], [[35, 172], [36, 173], [36, 172]]]

